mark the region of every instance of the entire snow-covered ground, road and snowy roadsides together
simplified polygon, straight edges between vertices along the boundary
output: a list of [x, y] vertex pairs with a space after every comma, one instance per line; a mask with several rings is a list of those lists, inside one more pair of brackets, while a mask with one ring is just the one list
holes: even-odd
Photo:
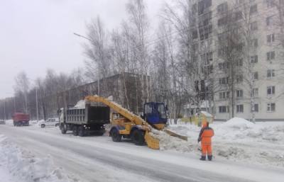
[[[9, 137], [1, 136], [0, 182], [32, 181], [28, 176], [45, 176], [40, 179], [44, 182], [66, 178], [111, 182], [282, 181], [284, 123], [253, 124], [236, 118], [213, 123], [211, 127], [215, 132], [214, 160], [208, 162], [199, 160], [200, 127], [195, 125], [170, 125], [171, 130], [187, 135], [188, 141], [162, 133], [158, 151], [126, 141], [112, 142], [107, 135], [75, 137], [70, 132], [62, 135], [58, 127], [40, 128], [36, 124], [13, 127], [10, 120], [6, 126], [0, 126], [0, 135]], [[9, 162], [6, 159], [9, 156], [16, 160]], [[19, 169], [31, 172], [21, 174]], [[56, 173], [63, 178], [57, 178]]]

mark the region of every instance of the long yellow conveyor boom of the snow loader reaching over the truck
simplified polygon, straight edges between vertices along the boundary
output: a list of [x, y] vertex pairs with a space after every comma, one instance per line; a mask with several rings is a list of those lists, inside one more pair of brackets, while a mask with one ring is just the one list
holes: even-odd
[[148, 125], [148, 123], [146, 123], [145, 120], [140, 118], [138, 115], [131, 113], [129, 110], [126, 110], [125, 108], [123, 108], [117, 103], [114, 103], [113, 101], [109, 101], [107, 98], [102, 98], [100, 96], [86, 96], [85, 100], [89, 102], [104, 103], [106, 106], [109, 106], [109, 108], [124, 116], [124, 118], [127, 118], [136, 125], [147, 125], [148, 127], [150, 126]]

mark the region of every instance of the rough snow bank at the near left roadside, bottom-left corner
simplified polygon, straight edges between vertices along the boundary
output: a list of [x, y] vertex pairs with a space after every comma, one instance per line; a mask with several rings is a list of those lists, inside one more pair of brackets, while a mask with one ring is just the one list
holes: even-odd
[[70, 180], [62, 168], [55, 168], [51, 157], [35, 158], [31, 152], [18, 148], [3, 135], [0, 135], [0, 166], [4, 166], [15, 181], [75, 181], [75, 179]]

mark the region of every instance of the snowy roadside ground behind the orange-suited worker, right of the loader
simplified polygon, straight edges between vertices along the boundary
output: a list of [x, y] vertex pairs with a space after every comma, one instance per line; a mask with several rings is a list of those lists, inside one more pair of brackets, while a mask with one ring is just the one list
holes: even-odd
[[[284, 122], [253, 124], [242, 118], [213, 123], [213, 154], [215, 158], [284, 167]], [[197, 138], [200, 127], [190, 124], [170, 125], [170, 130], [187, 135], [187, 142], [164, 142], [162, 149], [200, 154]]]

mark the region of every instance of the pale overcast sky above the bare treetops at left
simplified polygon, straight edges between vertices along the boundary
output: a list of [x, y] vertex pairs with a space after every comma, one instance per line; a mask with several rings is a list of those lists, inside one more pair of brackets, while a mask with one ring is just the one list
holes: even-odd
[[[47, 69], [69, 73], [84, 67], [82, 43], [73, 33], [97, 15], [111, 30], [126, 19], [128, 0], [1, 0], [0, 98], [13, 96], [14, 78], [45, 76]], [[146, 0], [152, 26], [164, 0]]]

